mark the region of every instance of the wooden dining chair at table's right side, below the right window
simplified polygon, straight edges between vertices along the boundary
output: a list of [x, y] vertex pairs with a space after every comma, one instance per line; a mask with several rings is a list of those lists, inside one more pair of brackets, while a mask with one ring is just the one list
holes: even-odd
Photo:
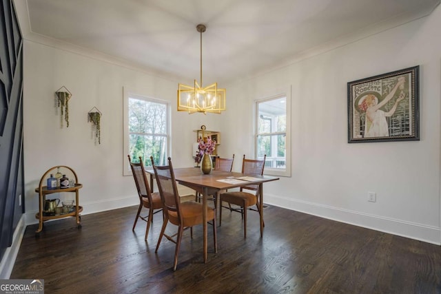
[[[263, 175], [263, 169], [265, 168], [265, 160], [267, 156], [263, 156], [263, 159], [246, 159], [245, 154], [243, 155], [242, 161], [242, 174], [247, 175]], [[252, 192], [248, 192], [248, 191]], [[259, 194], [258, 185], [247, 185], [240, 187], [240, 191], [227, 191], [225, 193], [220, 193], [220, 211], [219, 211], [219, 225], [222, 224], [222, 209], [223, 202], [227, 202], [229, 211], [240, 212], [243, 218], [243, 234], [247, 238], [247, 209], [256, 205], [258, 213], [260, 213], [260, 218], [263, 217], [263, 211], [259, 209]], [[231, 204], [237, 205], [239, 208], [234, 208]], [[263, 223], [265, 226], [265, 222]]]

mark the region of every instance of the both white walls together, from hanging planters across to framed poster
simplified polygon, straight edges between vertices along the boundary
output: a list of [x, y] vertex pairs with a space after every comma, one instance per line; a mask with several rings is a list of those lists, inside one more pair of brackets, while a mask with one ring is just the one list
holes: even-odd
[[[424, 19], [222, 85], [227, 111], [220, 116], [176, 112], [178, 81], [27, 40], [27, 223], [35, 222], [38, 209], [34, 188], [54, 165], [70, 165], [79, 174], [84, 213], [137, 204], [133, 179], [122, 176], [123, 87], [172, 103], [171, 156], [175, 167], [183, 167], [193, 163], [192, 130], [203, 124], [222, 132], [221, 155], [252, 156], [254, 99], [291, 85], [292, 176], [265, 185], [265, 201], [440, 244], [440, 27], [438, 7]], [[348, 144], [347, 82], [414, 65], [420, 65], [421, 140]], [[60, 129], [53, 101], [62, 85], [73, 96], [70, 127]], [[94, 144], [87, 122], [94, 106], [103, 112], [101, 145]], [[377, 193], [377, 202], [367, 202], [368, 191]]]

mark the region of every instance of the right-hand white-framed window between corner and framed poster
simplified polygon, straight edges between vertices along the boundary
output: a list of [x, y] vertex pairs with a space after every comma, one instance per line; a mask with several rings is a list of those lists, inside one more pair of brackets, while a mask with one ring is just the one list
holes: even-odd
[[280, 94], [256, 101], [256, 158], [267, 155], [265, 174], [291, 176], [289, 100]]

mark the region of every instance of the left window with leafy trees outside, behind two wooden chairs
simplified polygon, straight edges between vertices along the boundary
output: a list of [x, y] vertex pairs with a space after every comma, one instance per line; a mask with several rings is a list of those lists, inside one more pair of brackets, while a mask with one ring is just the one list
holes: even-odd
[[124, 175], [130, 175], [127, 154], [133, 162], [143, 158], [151, 166], [167, 163], [169, 145], [169, 105], [164, 101], [136, 94], [124, 94]]

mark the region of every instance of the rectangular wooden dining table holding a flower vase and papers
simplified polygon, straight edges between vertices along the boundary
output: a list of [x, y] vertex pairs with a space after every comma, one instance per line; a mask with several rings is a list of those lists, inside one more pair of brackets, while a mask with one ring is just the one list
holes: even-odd
[[[150, 174], [150, 184], [153, 190], [154, 171], [147, 170]], [[260, 176], [255, 174], [241, 174], [229, 171], [212, 170], [209, 174], [202, 174], [201, 170], [195, 167], [184, 167], [174, 169], [176, 182], [194, 189], [201, 193], [202, 198], [202, 217], [203, 217], [203, 256], [204, 262], [207, 262], [207, 198], [219, 191], [244, 187], [249, 185], [258, 185], [259, 210], [260, 213], [260, 237], [263, 237], [263, 183], [279, 180], [274, 176]], [[220, 204], [222, 205], [222, 204]]]

